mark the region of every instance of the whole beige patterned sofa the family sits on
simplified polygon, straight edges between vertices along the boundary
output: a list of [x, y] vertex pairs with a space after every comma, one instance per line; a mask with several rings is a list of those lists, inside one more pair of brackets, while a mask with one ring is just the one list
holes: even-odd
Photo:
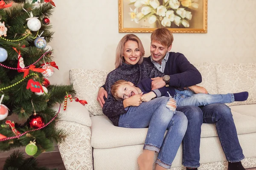
[[[210, 94], [248, 91], [245, 102], [230, 104], [244, 156], [244, 167], [256, 167], [256, 63], [195, 65], [201, 72], [204, 86]], [[96, 96], [109, 71], [71, 69], [79, 99], [88, 104], [68, 103], [61, 113], [58, 127], [69, 136], [59, 144], [67, 170], [139, 170], [137, 157], [142, 153], [147, 128], [129, 129], [113, 126], [103, 115]], [[214, 124], [203, 124], [201, 132], [200, 170], [227, 170], [227, 161]], [[172, 170], [184, 170], [182, 146], [172, 164]]]

